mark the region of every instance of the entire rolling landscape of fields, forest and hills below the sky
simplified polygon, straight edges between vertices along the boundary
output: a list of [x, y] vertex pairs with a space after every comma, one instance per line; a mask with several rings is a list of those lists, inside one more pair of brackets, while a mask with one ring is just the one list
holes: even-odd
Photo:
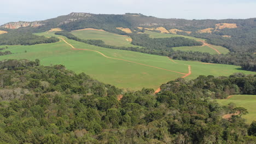
[[0, 26], [0, 143], [255, 143], [256, 18], [71, 13]]

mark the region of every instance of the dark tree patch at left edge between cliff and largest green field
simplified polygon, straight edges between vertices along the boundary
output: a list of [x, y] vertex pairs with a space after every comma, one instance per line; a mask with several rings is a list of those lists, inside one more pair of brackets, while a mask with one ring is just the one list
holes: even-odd
[[55, 37], [33, 35], [29, 32], [11, 31], [0, 35], [0, 45], [35, 45], [43, 43], [55, 43], [59, 39]]

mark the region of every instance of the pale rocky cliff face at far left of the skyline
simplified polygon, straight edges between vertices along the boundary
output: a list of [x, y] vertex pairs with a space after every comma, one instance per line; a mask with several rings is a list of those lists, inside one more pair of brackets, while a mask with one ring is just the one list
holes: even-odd
[[9, 28], [9, 29], [16, 29], [16, 28], [20, 28], [20, 27], [39, 27], [39, 26], [43, 26], [43, 23], [40, 23], [39, 21], [34, 21], [34, 22], [26, 22], [26, 21], [18, 21], [18, 22], [9, 22], [6, 23], [4, 25], [2, 25], [1, 27], [3, 28]]

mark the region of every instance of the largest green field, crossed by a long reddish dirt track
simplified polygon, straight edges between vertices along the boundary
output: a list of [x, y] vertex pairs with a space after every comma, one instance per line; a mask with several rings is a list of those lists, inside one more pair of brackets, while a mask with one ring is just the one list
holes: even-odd
[[[51, 37], [54, 36], [54, 32], [38, 33], [38, 35]], [[62, 37], [60, 35], [55, 36]], [[104, 53], [104, 55], [108, 57], [125, 59], [136, 63], [107, 58], [94, 51], [72, 50], [63, 40], [51, 44], [9, 46], [8, 50], [14, 54], [0, 56], [0, 60], [34, 60], [38, 58], [43, 65], [63, 64], [67, 69], [74, 70], [76, 73], [84, 72], [94, 79], [104, 83], [110, 83], [119, 88], [129, 88], [132, 90], [138, 90], [143, 87], [156, 89], [162, 83], [184, 76], [185, 73], [188, 73], [188, 65], [191, 65], [192, 74], [186, 77], [187, 79], [195, 79], [199, 75], [228, 76], [233, 73], [256, 74], [251, 71], [239, 70], [240, 67], [235, 65], [203, 64], [201, 62], [189, 61], [176, 61], [177, 63], [174, 63], [164, 56], [106, 49], [69, 39], [66, 39], [66, 41], [78, 49], [96, 50]], [[137, 63], [147, 64], [162, 69]], [[163, 69], [178, 71], [179, 73], [184, 74], [174, 73]]]

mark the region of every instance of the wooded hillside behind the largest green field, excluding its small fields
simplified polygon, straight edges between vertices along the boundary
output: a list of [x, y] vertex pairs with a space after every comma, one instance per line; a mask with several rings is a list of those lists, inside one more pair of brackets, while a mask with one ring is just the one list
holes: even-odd
[[[13, 26], [18, 29], [9, 29]], [[184, 20], [160, 19], [153, 16], [131, 13], [124, 15], [71, 13], [44, 21], [7, 23], [0, 27], [0, 30], [2, 29], [8, 32], [0, 35], [0, 45], [53, 43], [57, 41], [56, 38], [38, 37], [32, 35], [32, 33], [45, 32], [56, 27], [60, 27], [67, 32], [83, 28], [103, 29], [107, 32], [129, 35], [133, 40], [133, 45], [144, 47], [144, 49], [137, 49], [137, 47], [116, 47], [106, 45], [101, 40], [81, 40], [73, 37], [73, 35], [69, 37], [70, 34], [68, 36], [71, 39], [110, 49], [131, 50], [153, 55], [169, 56], [173, 59], [186, 61], [234, 64], [241, 66], [245, 70], [256, 71], [256, 58], [253, 54], [256, 52], [256, 18], [245, 20]], [[121, 31], [120, 29], [122, 28], [129, 29], [129, 33]], [[139, 34], [144, 32], [145, 29], [161, 33], [175, 31], [177, 34], [203, 38], [206, 39], [207, 43], [226, 47], [234, 53], [224, 56], [212, 56], [200, 52], [174, 52], [171, 47], [201, 44], [198, 41], [184, 38], [151, 39], [147, 35]], [[161, 31], [161, 29], [164, 29], [164, 31]], [[244, 61], [245, 59], [246, 61]]]

